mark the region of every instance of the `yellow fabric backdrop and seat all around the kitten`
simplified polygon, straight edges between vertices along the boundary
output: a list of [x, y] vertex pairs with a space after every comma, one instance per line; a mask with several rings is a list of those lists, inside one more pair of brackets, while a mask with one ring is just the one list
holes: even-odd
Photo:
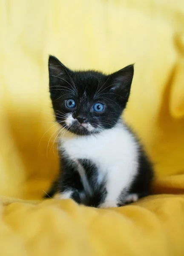
[[[184, 1], [0, 0], [0, 32], [0, 255], [183, 256]], [[37, 201], [58, 170], [49, 54], [104, 72], [135, 62], [125, 118], [158, 195], [105, 210]]]

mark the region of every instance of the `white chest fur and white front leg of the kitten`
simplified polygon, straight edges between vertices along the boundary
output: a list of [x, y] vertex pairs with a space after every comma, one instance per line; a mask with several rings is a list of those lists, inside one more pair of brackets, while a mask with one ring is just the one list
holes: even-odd
[[106, 177], [103, 207], [116, 206], [121, 191], [129, 188], [137, 173], [138, 144], [123, 124], [96, 135], [64, 138], [61, 148], [73, 160], [89, 159], [95, 163], [99, 180]]

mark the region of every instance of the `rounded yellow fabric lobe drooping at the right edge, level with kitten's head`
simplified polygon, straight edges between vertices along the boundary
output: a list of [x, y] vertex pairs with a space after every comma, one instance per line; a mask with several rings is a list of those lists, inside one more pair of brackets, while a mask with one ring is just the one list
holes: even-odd
[[184, 116], [184, 58], [181, 58], [176, 66], [175, 77], [170, 90], [169, 109], [174, 118]]

